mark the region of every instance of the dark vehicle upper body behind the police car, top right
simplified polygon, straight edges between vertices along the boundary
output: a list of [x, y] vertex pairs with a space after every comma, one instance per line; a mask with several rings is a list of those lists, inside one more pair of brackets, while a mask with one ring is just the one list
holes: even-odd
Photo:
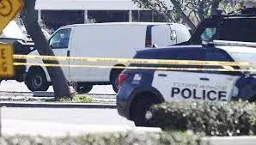
[[202, 40], [256, 42], [256, 8], [239, 14], [212, 15], [198, 24], [189, 41], [178, 45], [201, 45]]

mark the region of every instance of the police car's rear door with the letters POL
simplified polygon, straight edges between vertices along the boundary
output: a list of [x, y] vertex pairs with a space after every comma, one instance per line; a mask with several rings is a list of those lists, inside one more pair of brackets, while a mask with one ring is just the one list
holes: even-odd
[[[172, 51], [169, 59], [202, 60], [202, 48], [179, 48]], [[174, 68], [201, 68], [202, 66], [169, 65]], [[152, 86], [156, 88], [166, 101], [204, 100], [204, 73], [198, 71], [166, 71], [156, 70]]]

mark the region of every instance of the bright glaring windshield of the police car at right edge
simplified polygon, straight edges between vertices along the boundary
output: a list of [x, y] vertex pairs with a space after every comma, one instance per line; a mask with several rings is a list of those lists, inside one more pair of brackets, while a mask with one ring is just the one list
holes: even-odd
[[[230, 57], [232, 57], [235, 62], [256, 62], [256, 48], [253, 47], [241, 47], [241, 46], [222, 46], [222, 49], [226, 50]], [[256, 69], [256, 65], [240, 66], [241, 69]], [[255, 74], [256, 72], [251, 72]]]

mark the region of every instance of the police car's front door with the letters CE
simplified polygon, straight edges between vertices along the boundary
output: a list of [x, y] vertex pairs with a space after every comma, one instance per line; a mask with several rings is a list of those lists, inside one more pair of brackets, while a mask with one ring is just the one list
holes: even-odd
[[[209, 48], [204, 50], [204, 61], [234, 62], [226, 51]], [[232, 66], [203, 66], [204, 69], [234, 69]], [[207, 70], [204, 72], [204, 91], [207, 100], [230, 100], [231, 92], [241, 72]]]

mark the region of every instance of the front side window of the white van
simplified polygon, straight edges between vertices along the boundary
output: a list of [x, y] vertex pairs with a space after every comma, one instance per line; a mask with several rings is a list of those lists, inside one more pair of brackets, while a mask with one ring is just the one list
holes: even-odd
[[54, 33], [50, 39], [50, 46], [52, 49], [66, 49], [69, 47], [70, 41], [70, 28], [58, 30], [57, 33]]

